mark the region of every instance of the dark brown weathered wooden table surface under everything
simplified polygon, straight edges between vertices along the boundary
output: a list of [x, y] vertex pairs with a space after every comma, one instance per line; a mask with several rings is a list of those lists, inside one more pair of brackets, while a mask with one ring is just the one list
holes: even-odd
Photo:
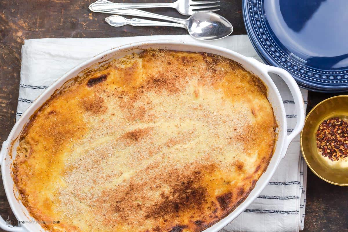
[[[242, 0], [220, 1], [219, 14], [233, 24], [233, 34], [246, 34]], [[137, 1], [128, 0], [127, 2]], [[143, 0], [143, 2], [151, 1]], [[104, 23], [105, 14], [91, 13], [88, 10], [89, 3], [91, 0], [0, 0], [1, 143], [7, 138], [15, 124], [21, 46], [25, 39], [187, 33], [184, 29], [170, 27], [111, 27]], [[156, 13], [183, 17], [174, 9], [156, 9]], [[334, 95], [337, 94], [309, 92], [307, 111], [323, 99]], [[0, 214], [5, 220], [7, 217], [14, 218], [3, 190], [2, 181], [0, 181]], [[0, 229], [0, 231], [2, 230]], [[304, 231], [348, 231], [348, 187], [326, 183], [308, 170]]]

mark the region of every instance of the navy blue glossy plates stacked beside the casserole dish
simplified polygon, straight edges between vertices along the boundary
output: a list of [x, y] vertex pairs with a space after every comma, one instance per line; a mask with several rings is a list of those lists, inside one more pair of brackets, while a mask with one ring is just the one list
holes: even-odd
[[244, 23], [267, 64], [303, 88], [348, 90], [348, 0], [243, 0]]

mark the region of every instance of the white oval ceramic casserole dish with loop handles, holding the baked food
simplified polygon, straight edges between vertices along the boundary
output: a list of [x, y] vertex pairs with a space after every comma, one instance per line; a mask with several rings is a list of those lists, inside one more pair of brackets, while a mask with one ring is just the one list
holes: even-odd
[[[67, 83], [73, 81], [73, 78], [82, 75], [86, 69], [95, 69], [105, 62], [110, 61], [115, 58], [122, 58], [125, 55], [131, 53], [139, 53], [143, 49], [149, 48], [160, 48], [160, 49], [170, 49], [178, 51], [192, 51], [192, 52], [206, 52], [212, 53], [220, 56], [227, 57], [238, 63], [240, 63], [247, 71], [250, 71], [257, 75], [263, 83], [266, 85], [268, 90], [268, 100], [271, 103], [276, 122], [278, 124], [276, 145], [273, 157], [269, 163], [267, 170], [262, 174], [260, 179], [255, 185], [255, 188], [251, 191], [248, 197], [228, 216], [221, 219], [219, 222], [215, 223], [211, 227], [204, 230], [204, 232], [217, 232], [226, 226], [229, 222], [235, 219], [240, 213], [242, 213], [245, 208], [250, 205], [250, 203], [258, 197], [262, 189], [267, 185], [270, 178], [274, 174], [279, 161], [285, 156], [286, 150], [292, 139], [300, 133], [304, 124], [305, 112], [303, 108], [303, 99], [298, 85], [292, 76], [285, 70], [278, 67], [273, 67], [269, 65], [262, 64], [251, 57], [245, 57], [234, 51], [226, 48], [208, 45], [205, 43], [198, 42], [188, 42], [188, 41], [169, 41], [169, 40], [157, 40], [157, 41], [145, 41], [138, 43], [131, 43], [128, 45], [113, 48], [103, 53], [88, 59], [87, 61], [76, 66], [69, 72], [65, 73], [61, 78], [55, 81], [49, 88], [47, 88], [44, 93], [42, 93], [23, 113], [21, 118], [16, 122], [13, 129], [11, 130], [8, 139], [3, 142], [0, 152], [0, 165], [2, 173], [2, 181], [9, 201], [10, 207], [18, 220], [21, 221], [31, 221], [33, 217], [29, 214], [25, 206], [21, 201], [18, 201], [18, 191], [15, 188], [15, 184], [11, 177], [12, 174], [12, 162], [16, 157], [16, 149], [18, 146], [18, 138], [22, 132], [22, 129], [26, 123], [30, 120], [30, 117], [34, 112], [44, 104], [47, 99], [59, 89], [66, 85]], [[287, 135], [287, 125], [286, 125], [286, 112], [284, 109], [282, 98], [280, 97], [279, 91], [275, 86], [274, 82], [270, 78], [268, 73], [275, 73], [279, 75], [289, 87], [291, 94], [293, 95], [297, 121], [296, 126], [290, 135]], [[70, 80], [70, 81], [69, 81]], [[21, 231], [21, 232], [38, 232], [46, 231], [40, 224], [37, 223], [25, 223], [20, 224], [20, 226], [10, 227], [6, 222], [0, 217], [0, 228], [7, 231]]]

